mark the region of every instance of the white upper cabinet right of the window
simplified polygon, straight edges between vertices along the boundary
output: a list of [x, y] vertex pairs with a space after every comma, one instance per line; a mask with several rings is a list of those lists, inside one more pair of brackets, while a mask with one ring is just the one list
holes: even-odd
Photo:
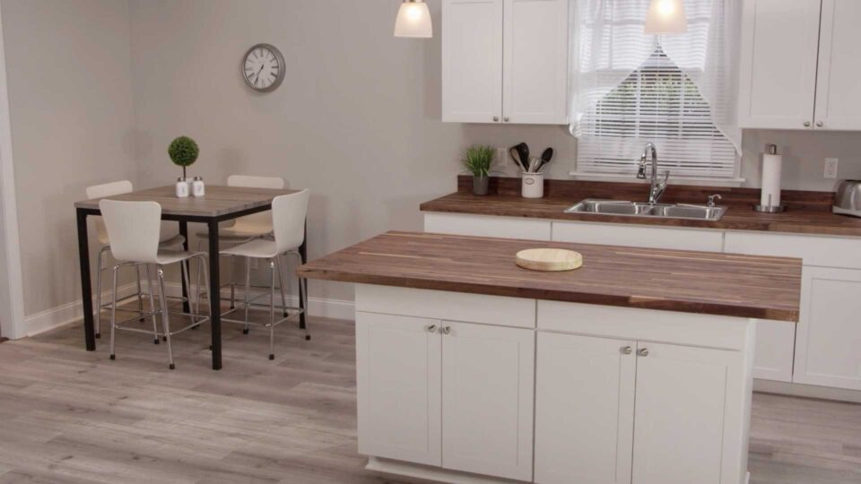
[[857, 0], [745, 0], [739, 125], [861, 129]]

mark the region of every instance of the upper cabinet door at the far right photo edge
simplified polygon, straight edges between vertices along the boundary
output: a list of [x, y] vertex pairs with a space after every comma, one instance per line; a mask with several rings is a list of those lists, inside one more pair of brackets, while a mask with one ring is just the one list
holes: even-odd
[[823, 0], [816, 82], [817, 129], [861, 130], [861, 2]]

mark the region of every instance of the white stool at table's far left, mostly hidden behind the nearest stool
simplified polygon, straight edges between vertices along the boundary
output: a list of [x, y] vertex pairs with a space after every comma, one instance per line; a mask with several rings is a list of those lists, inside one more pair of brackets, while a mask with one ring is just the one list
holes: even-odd
[[[102, 185], [94, 185], [87, 187], [87, 198], [90, 200], [94, 198], [105, 198], [108, 196], [113, 196], [117, 194], [127, 194], [134, 191], [134, 186], [132, 186], [132, 182], [128, 180], [122, 180], [117, 182], [105, 183]], [[110, 250], [110, 238], [108, 237], [108, 230], [105, 229], [105, 222], [101, 219], [101, 217], [93, 217], [96, 224], [96, 238], [99, 240], [101, 244], [101, 248], [99, 249], [99, 256], [97, 257], [98, 269], [96, 270], [96, 338], [101, 337], [101, 310], [103, 308], [109, 307], [110, 303], [101, 302], [101, 273], [106, 271], [108, 267], [106, 266], [105, 255]], [[161, 248], [170, 248], [175, 246], [181, 246], [186, 241], [186, 238], [181, 235], [175, 234], [173, 236], [168, 236], [163, 238], [159, 242], [159, 246]], [[149, 284], [149, 274], [147, 274], [147, 283]], [[150, 298], [152, 298], [152, 286], [148, 286], [148, 290], [150, 292]], [[137, 267], [137, 294], [133, 296], [137, 297], [137, 304], [139, 308], [139, 312], [143, 314], [143, 290], [141, 289], [141, 269]], [[152, 305], [151, 305], [152, 306]], [[157, 327], [155, 317], [152, 318], [153, 328]], [[155, 344], [159, 344], [159, 340], [156, 339], [152, 341]]]

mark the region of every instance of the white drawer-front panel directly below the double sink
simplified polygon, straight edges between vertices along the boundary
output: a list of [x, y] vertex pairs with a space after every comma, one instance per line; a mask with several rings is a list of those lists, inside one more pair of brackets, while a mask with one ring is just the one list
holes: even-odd
[[720, 252], [723, 232], [612, 223], [553, 222], [556, 242]]

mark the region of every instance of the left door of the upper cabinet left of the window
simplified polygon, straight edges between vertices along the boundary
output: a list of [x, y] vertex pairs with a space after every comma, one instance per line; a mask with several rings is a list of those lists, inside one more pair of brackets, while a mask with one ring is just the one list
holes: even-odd
[[502, 121], [502, 4], [443, 0], [443, 121]]

